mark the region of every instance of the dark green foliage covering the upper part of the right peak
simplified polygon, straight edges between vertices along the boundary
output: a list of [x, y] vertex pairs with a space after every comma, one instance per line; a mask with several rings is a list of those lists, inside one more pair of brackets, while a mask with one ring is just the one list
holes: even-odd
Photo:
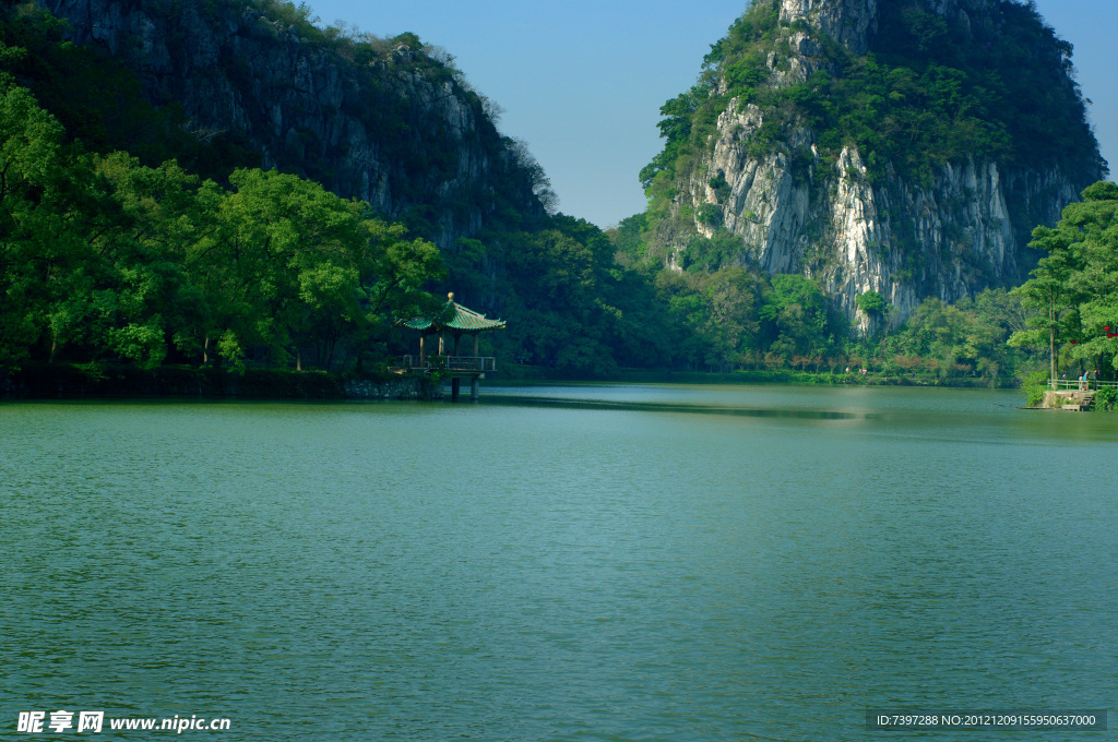
[[[711, 47], [695, 86], [661, 108], [665, 146], [641, 173], [646, 188], [663, 173], [653, 196], [671, 192], [690, 174], [731, 101], [766, 113], [750, 152], [785, 150], [794, 163], [812, 155], [789, 150], [787, 134], [806, 125], [832, 162], [843, 146], [856, 145], [871, 177], [890, 163], [927, 182], [936, 167], [968, 154], [1041, 168], [1059, 162], [1086, 177], [1106, 167], [1068, 74], [1071, 45], [1031, 3], [1005, 0], [988, 22], [954, 28], [920, 3], [881, 2], [878, 34], [864, 56], [803, 21], [781, 26], [778, 7], [754, 0]], [[774, 84], [769, 55], [777, 70], [787, 69], [789, 40], [808, 32], [822, 68], [805, 83]]]

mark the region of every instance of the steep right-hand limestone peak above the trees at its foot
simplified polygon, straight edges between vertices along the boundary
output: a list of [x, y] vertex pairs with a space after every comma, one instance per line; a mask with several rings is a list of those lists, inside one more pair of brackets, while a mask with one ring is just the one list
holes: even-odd
[[[863, 332], [1022, 280], [1106, 173], [1071, 46], [1003, 0], [756, 0], [665, 103], [641, 258], [800, 274]], [[864, 299], [863, 299], [864, 301]]]

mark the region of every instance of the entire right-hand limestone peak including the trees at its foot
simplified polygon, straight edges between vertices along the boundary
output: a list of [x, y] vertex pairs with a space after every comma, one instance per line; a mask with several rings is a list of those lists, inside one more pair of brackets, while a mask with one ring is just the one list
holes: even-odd
[[1107, 172], [1071, 51], [1024, 2], [750, 2], [661, 110], [622, 260], [712, 367], [1029, 368], [1030, 236]]

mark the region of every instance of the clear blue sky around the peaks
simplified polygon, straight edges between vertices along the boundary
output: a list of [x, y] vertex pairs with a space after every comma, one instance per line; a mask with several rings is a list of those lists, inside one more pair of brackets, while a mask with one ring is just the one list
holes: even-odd
[[[440, 46], [504, 108], [501, 131], [528, 142], [559, 209], [600, 227], [644, 210], [637, 173], [661, 149], [660, 106], [694, 84], [710, 45], [745, 0], [307, 0], [344, 20]], [[1073, 61], [1102, 156], [1118, 171], [1118, 1], [1038, 0]]]

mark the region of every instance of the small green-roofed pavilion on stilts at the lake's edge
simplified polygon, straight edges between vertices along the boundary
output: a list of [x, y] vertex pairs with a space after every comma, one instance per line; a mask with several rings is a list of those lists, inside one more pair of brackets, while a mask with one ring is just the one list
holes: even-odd
[[[396, 324], [419, 331], [419, 355], [405, 355], [395, 370], [401, 373], [430, 373], [439, 370], [451, 377], [451, 401], [458, 401], [462, 379], [470, 379], [470, 399], [477, 399], [479, 381], [486, 371], [496, 368], [496, 359], [483, 356], [479, 351], [479, 336], [483, 332], [504, 330], [504, 320], [486, 320], [484, 314], [468, 310], [454, 301], [454, 294], [446, 295], [446, 304], [438, 313], [400, 320]], [[447, 354], [446, 335], [454, 339], [453, 351]], [[438, 335], [437, 360], [428, 356], [427, 339]], [[474, 354], [462, 355], [462, 336], [474, 339]]]

